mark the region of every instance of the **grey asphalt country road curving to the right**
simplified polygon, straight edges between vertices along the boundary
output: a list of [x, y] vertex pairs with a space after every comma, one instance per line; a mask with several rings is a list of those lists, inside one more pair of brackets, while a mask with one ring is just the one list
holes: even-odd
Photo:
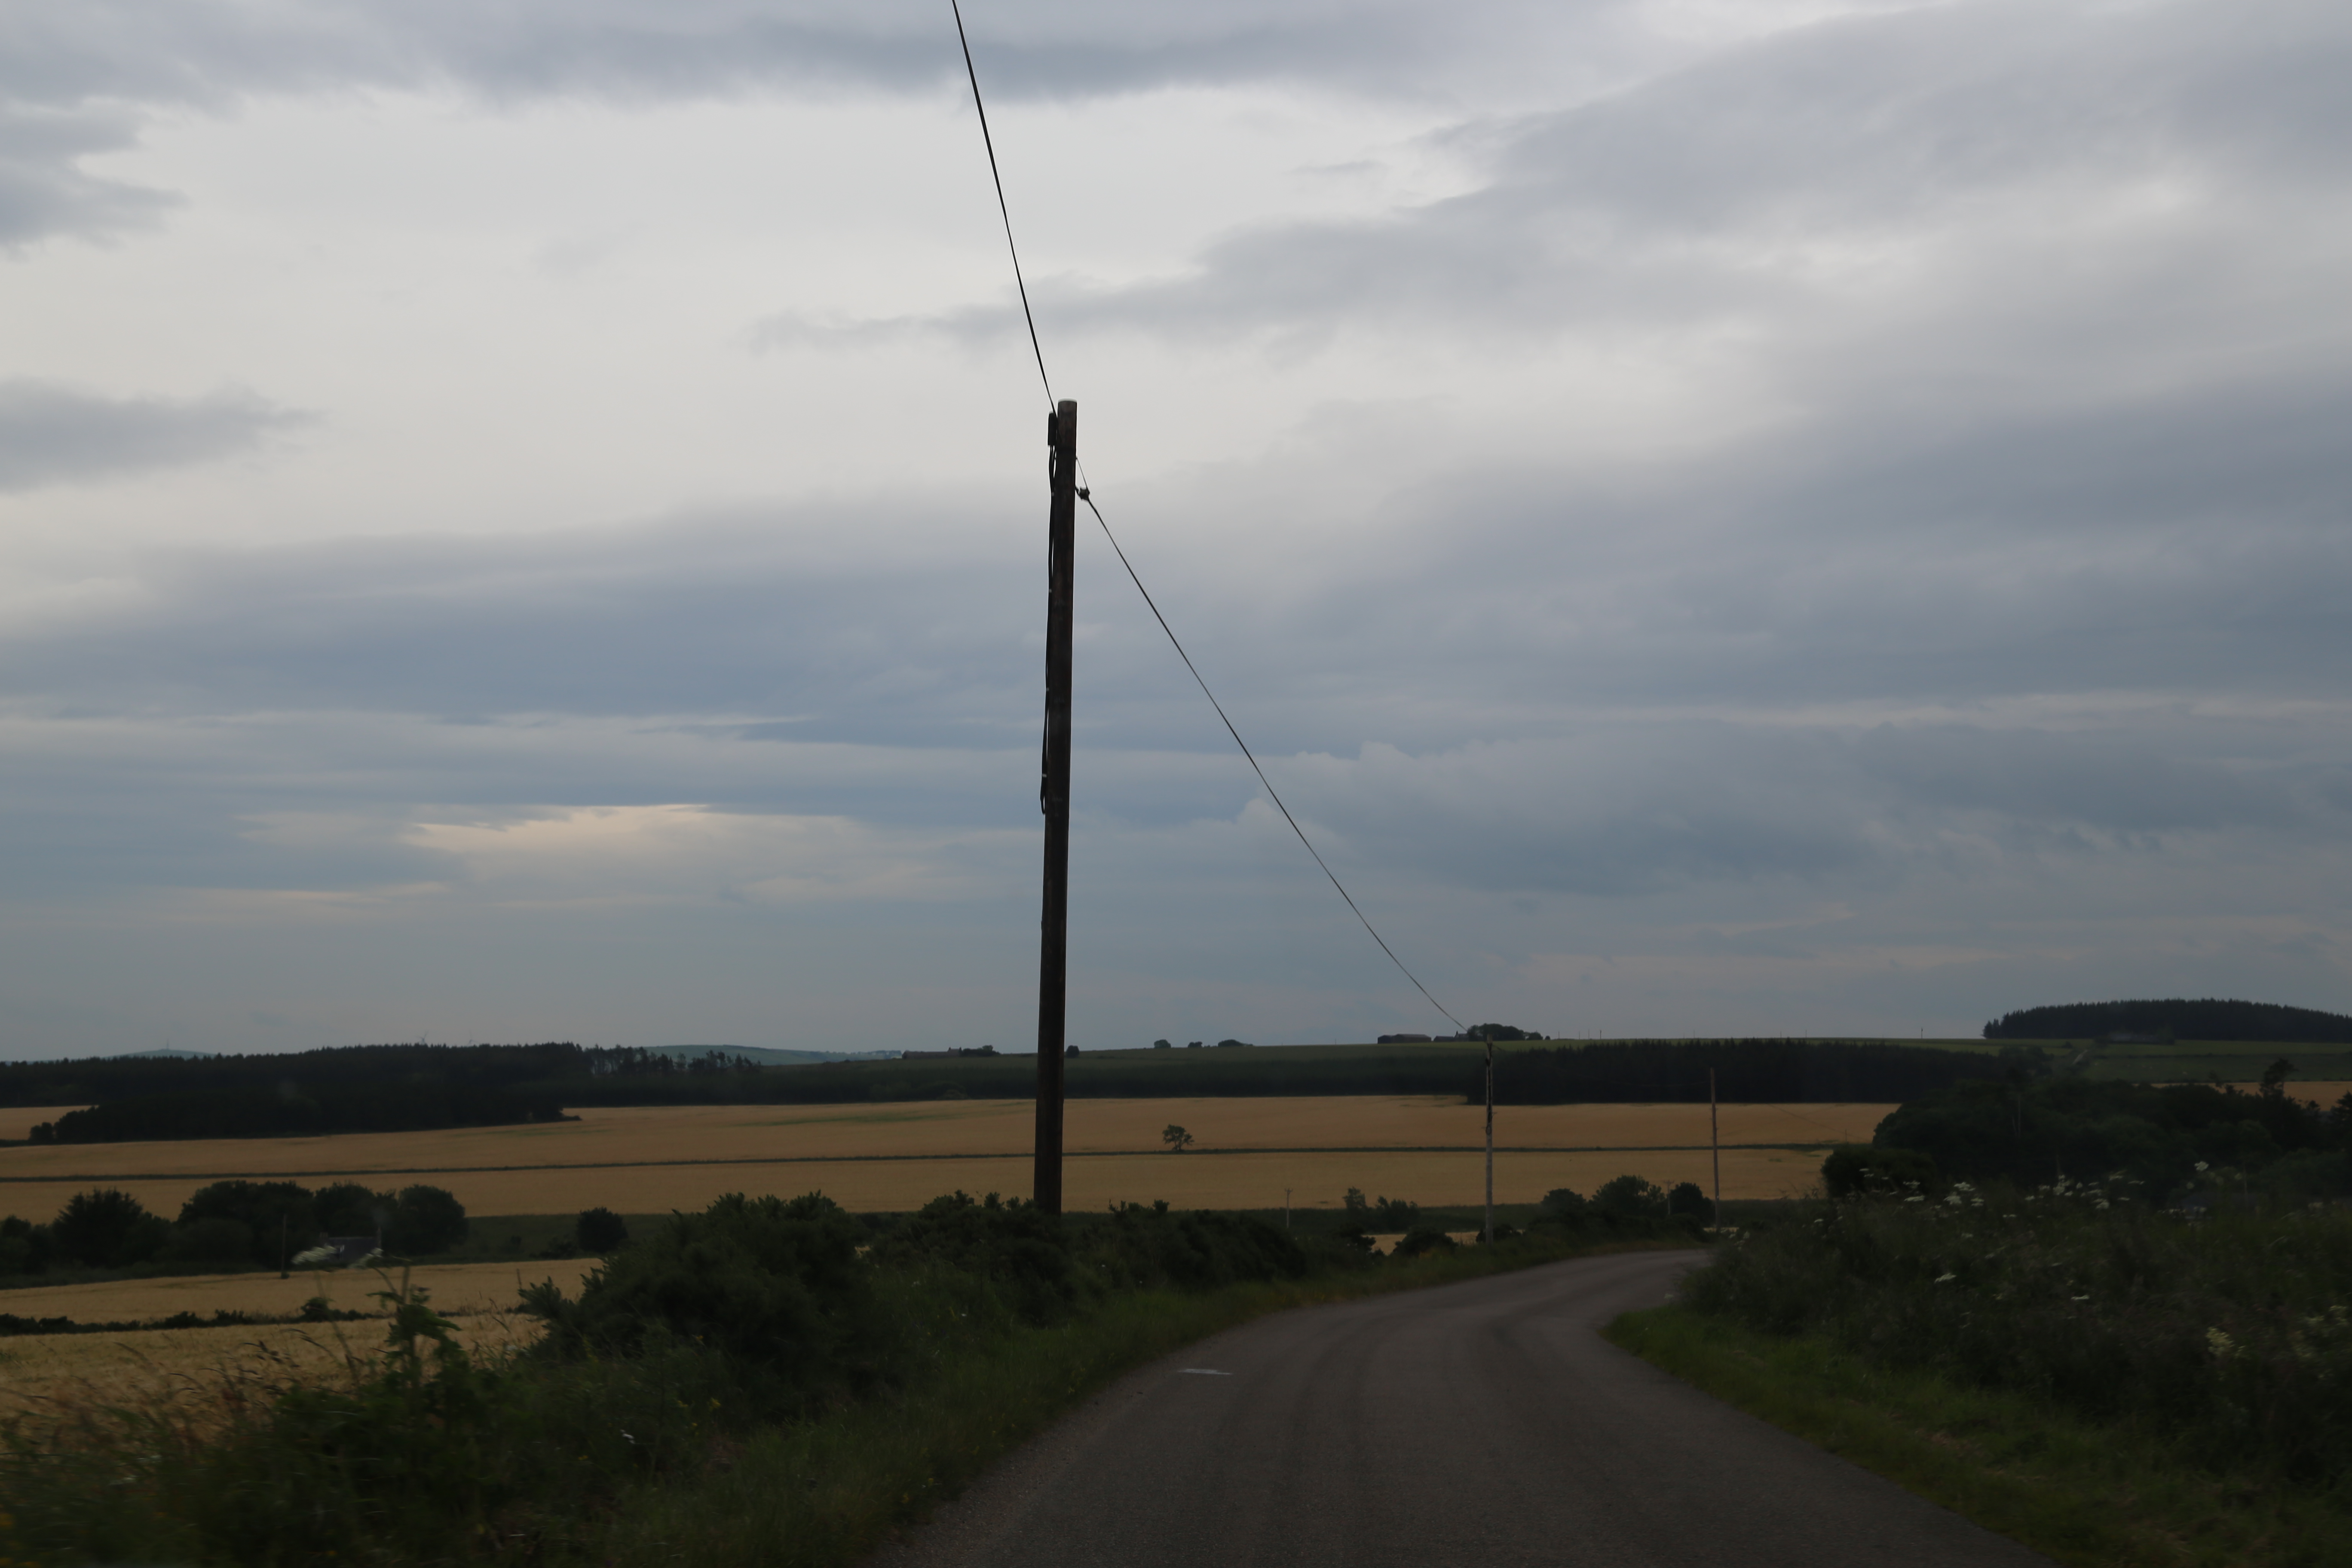
[[1595, 1333], [1696, 1258], [1583, 1258], [1202, 1340], [875, 1568], [2049, 1568]]

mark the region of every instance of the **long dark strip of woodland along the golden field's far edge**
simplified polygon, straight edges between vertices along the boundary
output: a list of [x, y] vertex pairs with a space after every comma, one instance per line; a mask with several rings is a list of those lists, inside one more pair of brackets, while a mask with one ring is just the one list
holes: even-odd
[[[1985, 1053], [1809, 1039], [1512, 1046], [1496, 1100], [1708, 1098], [1910, 1100], [1999, 1077]], [[35, 1128], [42, 1143], [390, 1133], [550, 1121], [583, 1105], [840, 1105], [1004, 1100], [1035, 1093], [1028, 1056], [764, 1067], [710, 1053], [680, 1060], [567, 1041], [536, 1046], [343, 1046], [289, 1056], [118, 1058], [0, 1065], [0, 1105], [89, 1105]], [[1065, 1060], [1073, 1098], [1484, 1093], [1479, 1051], [1458, 1044], [1120, 1051]]]

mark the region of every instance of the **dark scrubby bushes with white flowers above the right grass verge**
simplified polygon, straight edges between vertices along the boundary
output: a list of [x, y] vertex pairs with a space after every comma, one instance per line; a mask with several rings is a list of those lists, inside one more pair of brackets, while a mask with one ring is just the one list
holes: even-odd
[[2140, 1422], [2197, 1462], [2352, 1472], [2352, 1213], [2154, 1208], [2129, 1178], [1809, 1204], [1719, 1248], [1684, 1300]]

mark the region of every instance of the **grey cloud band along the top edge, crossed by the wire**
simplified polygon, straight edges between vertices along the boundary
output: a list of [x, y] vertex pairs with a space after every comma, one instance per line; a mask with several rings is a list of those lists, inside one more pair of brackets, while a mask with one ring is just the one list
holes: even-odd
[[[946, 7], [917, 0], [233, 0], [19, 2], [0, 92], [35, 101], [216, 101], [341, 85], [459, 87], [494, 96], [604, 92], [703, 96], [741, 87], [910, 89], [962, 71]], [[1428, 94], [1465, 61], [1573, 40], [1639, 49], [1623, 0], [1519, 0], [1432, 12], [1404, 0], [1319, 0], [1268, 12], [1185, 7], [969, 7], [974, 52], [1004, 96], [1091, 96], [1171, 82], [1310, 78]], [[1573, 66], [1571, 66], [1573, 68]]]

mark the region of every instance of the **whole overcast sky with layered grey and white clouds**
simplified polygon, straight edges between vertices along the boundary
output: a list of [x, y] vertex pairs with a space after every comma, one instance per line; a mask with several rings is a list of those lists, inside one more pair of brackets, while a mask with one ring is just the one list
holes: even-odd
[[[2340, 0], [967, 19], [1094, 494], [1458, 1018], [2352, 1011]], [[946, 0], [0, 0], [0, 1053], [1030, 1046]], [[1070, 1037], [1446, 1030], [1077, 592]]]

